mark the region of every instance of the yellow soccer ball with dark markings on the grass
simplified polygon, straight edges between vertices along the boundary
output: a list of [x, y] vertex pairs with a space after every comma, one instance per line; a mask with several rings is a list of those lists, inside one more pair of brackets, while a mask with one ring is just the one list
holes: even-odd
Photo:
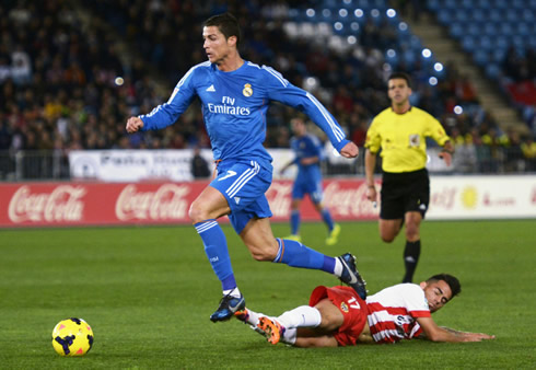
[[82, 319], [61, 320], [53, 331], [53, 347], [60, 356], [84, 356], [93, 346], [93, 331]]

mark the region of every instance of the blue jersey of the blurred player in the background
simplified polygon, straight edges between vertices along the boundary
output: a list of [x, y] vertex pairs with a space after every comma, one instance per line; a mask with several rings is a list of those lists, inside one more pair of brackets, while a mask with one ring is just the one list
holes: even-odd
[[318, 161], [322, 160], [322, 143], [321, 140], [314, 135], [306, 134], [302, 137], [293, 137], [290, 141], [295, 159], [294, 163], [298, 165], [296, 182], [317, 182], [321, 180], [321, 165], [319, 162], [313, 164], [303, 165], [301, 163], [304, 158], [318, 157]]

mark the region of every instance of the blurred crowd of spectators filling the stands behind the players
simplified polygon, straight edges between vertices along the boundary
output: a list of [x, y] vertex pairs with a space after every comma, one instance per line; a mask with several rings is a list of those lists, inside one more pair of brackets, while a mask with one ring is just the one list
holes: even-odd
[[[388, 106], [387, 24], [368, 23], [353, 53], [335, 53], [282, 31], [289, 8], [307, 1], [4, 0], [0, 3], [0, 151], [209, 148], [198, 103], [164, 130], [128, 136], [126, 119], [167, 101], [180, 77], [206, 60], [202, 21], [232, 11], [242, 23], [242, 56], [313, 91], [360, 147], [372, 117]], [[80, 8], [81, 7], [81, 8]], [[536, 144], [501, 131], [478, 104], [469, 79], [445, 66], [430, 85], [419, 62], [412, 104], [440, 118], [454, 138], [461, 172], [536, 171]], [[288, 148], [295, 111], [275, 104], [266, 146]]]

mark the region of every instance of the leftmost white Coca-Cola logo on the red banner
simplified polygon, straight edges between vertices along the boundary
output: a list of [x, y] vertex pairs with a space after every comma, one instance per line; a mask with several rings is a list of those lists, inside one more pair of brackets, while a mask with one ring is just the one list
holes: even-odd
[[11, 197], [8, 215], [16, 223], [80, 221], [85, 193], [83, 186], [59, 185], [50, 193], [32, 194], [30, 186], [21, 186]]

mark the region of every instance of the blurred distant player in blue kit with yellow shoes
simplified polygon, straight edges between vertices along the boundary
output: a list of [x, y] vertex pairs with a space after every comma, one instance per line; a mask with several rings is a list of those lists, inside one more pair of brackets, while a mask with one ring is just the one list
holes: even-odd
[[316, 210], [321, 213], [324, 223], [327, 226], [329, 235], [326, 239], [327, 245], [337, 243], [340, 233], [340, 227], [334, 222], [329, 209], [324, 207], [322, 188], [321, 160], [323, 159], [323, 148], [321, 140], [307, 132], [305, 122], [301, 117], [293, 118], [291, 122], [292, 132], [294, 136], [290, 141], [290, 147], [294, 152], [294, 160], [287, 163], [281, 170], [282, 174], [293, 164], [298, 165], [298, 175], [292, 186], [292, 205], [290, 215], [291, 239], [301, 242], [300, 236], [300, 205], [305, 194], [308, 194]]

